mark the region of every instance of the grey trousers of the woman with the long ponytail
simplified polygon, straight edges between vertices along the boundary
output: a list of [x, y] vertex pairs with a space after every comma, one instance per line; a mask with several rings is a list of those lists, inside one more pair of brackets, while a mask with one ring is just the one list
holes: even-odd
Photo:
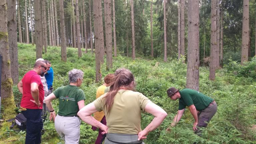
[[138, 141], [137, 134], [107, 133], [104, 144], [144, 144], [144, 142]]

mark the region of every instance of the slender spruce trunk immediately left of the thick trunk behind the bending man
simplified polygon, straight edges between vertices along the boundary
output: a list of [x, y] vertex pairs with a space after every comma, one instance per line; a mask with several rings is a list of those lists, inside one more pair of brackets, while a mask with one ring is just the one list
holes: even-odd
[[[184, 0], [180, 0], [180, 54], [185, 55], [185, 19], [184, 19]], [[185, 61], [183, 61], [185, 63]]]

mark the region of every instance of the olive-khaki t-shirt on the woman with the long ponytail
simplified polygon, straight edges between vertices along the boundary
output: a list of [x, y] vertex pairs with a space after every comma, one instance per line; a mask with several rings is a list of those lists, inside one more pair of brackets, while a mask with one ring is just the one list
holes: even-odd
[[142, 93], [130, 90], [118, 91], [110, 111], [105, 104], [106, 94], [96, 99], [93, 104], [97, 111], [104, 111], [108, 133], [138, 134], [141, 131], [141, 111], [144, 111], [150, 100]]

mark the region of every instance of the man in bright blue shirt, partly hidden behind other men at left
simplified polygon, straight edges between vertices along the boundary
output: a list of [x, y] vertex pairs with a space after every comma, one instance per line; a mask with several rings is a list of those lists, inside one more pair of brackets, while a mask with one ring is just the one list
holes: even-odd
[[45, 72], [45, 79], [46, 79], [46, 83], [48, 85], [48, 95], [52, 93], [53, 91], [53, 87], [52, 87], [52, 83], [53, 83], [53, 69], [51, 67], [51, 62], [48, 60], [45, 60], [47, 63], [47, 69], [49, 69], [48, 71]]

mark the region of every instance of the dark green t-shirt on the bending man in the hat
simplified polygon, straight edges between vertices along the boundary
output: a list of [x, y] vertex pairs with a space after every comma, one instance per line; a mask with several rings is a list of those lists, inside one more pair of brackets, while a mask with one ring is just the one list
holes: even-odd
[[179, 110], [186, 108], [186, 106], [195, 105], [196, 110], [202, 111], [207, 108], [213, 101], [212, 98], [192, 89], [180, 90]]

